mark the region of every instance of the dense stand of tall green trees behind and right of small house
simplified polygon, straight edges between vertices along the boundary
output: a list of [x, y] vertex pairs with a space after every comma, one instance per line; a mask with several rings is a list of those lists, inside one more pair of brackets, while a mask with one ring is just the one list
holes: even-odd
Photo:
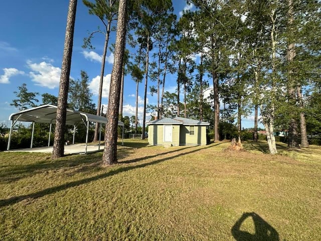
[[[157, 104], [147, 107], [157, 117], [210, 122], [220, 140], [221, 122], [236, 122], [241, 138], [241, 119], [254, 112], [254, 141], [261, 121], [272, 154], [276, 130], [287, 130], [289, 148], [308, 147], [307, 135], [320, 133], [319, 1], [190, 0], [179, 19], [171, 1], [138, 2], [128, 22], [136, 49], [129, 72], [137, 85], [145, 80], [144, 98], [154, 81]], [[176, 93], [164, 92], [169, 73]]]

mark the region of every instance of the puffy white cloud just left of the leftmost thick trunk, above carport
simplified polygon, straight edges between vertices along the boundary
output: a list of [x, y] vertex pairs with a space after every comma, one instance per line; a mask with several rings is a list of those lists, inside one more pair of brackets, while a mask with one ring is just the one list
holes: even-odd
[[45, 61], [41, 63], [33, 63], [27, 61], [28, 67], [32, 70], [29, 72], [32, 81], [36, 82], [36, 85], [48, 87], [53, 89], [59, 86], [61, 69], [54, 67], [51, 63]]

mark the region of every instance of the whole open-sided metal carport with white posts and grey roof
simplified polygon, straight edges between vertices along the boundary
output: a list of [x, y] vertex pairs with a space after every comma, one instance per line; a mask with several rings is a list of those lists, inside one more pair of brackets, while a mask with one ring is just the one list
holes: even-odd
[[[32, 135], [31, 135], [31, 146], [33, 147], [33, 139], [34, 139], [34, 130], [35, 130], [35, 123], [46, 123], [50, 124], [49, 130], [49, 140], [48, 140], [48, 147], [50, 146], [50, 135], [51, 135], [51, 127], [52, 124], [56, 123], [56, 113], [57, 113], [57, 106], [52, 104], [45, 104], [41, 106], [37, 106], [34, 108], [26, 109], [20, 111], [18, 113], [13, 113], [10, 115], [9, 120], [11, 121], [10, 127], [10, 134], [8, 140], [8, 148], [10, 150], [10, 143], [11, 143], [11, 136], [12, 136], [12, 129], [16, 125], [18, 121], [20, 122], [32, 122]], [[75, 110], [67, 109], [66, 115], [66, 125], [73, 125], [74, 126], [74, 135], [73, 135], [73, 144], [75, 142], [75, 131], [76, 131], [76, 124], [77, 123], [85, 124], [87, 131], [86, 131], [86, 146], [85, 146], [85, 153], [87, 153], [87, 146], [88, 146], [88, 132], [89, 132], [89, 122], [99, 123], [99, 130], [101, 133], [101, 124], [107, 123], [107, 118], [103, 116], [98, 116], [95, 114], [89, 114], [85, 112], [78, 112]], [[118, 126], [122, 127], [122, 137], [124, 135], [124, 123], [118, 122]], [[99, 148], [100, 149], [100, 134], [99, 134]], [[122, 140], [123, 145], [123, 140]]]

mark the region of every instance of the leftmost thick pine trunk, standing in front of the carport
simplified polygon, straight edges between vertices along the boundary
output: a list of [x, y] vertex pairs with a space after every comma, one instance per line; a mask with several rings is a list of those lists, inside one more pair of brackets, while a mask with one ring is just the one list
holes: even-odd
[[67, 114], [67, 99], [69, 89], [69, 76], [71, 67], [71, 56], [74, 39], [74, 28], [76, 18], [77, 0], [70, 0], [67, 15], [67, 27], [65, 36], [64, 55], [62, 59], [60, 86], [57, 104], [55, 140], [52, 150], [52, 158], [56, 159], [64, 156], [64, 137]]

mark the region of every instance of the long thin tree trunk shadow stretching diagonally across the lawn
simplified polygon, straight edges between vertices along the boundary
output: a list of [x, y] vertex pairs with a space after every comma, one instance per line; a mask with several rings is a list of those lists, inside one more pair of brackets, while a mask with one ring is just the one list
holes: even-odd
[[[210, 146], [210, 147], [212, 147], [212, 146]], [[36, 198], [39, 198], [39, 197], [46, 196], [48, 194], [56, 193], [56, 192], [71, 188], [71, 187], [77, 187], [77, 186], [82, 185], [82, 184], [86, 184], [86, 183], [89, 183], [89, 182], [92, 182], [92, 181], [96, 181], [96, 180], [99, 180], [99, 179], [107, 178], [107, 177], [116, 175], [118, 173], [130, 171], [130, 170], [137, 169], [137, 168], [143, 168], [143, 167], [155, 165], [155, 164], [158, 164], [158, 163], [161, 163], [161, 162], [164, 162], [164, 161], [176, 158], [176, 157], [180, 157], [180, 156], [188, 155], [188, 154], [191, 154], [191, 153], [195, 153], [195, 152], [198, 152], [200, 150], [207, 149], [207, 148], [210, 148], [210, 147], [207, 146], [207, 147], [204, 147], [204, 148], [192, 150], [192, 151], [185, 152], [185, 153], [180, 153], [180, 154], [177, 154], [175, 156], [166, 157], [166, 158], [163, 158], [163, 159], [159, 159], [159, 160], [155, 160], [155, 161], [139, 164], [139, 165], [136, 165], [136, 166], [120, 167], [120, 168], [118, 168], [116, 170], [111, 170], [111, 171], [109, 171], [107, 173], [103, 173], [103, 174], [100, 174], [100, 175], [97, 175], [97, 176], [94, 176], [94, 177], [85, 178], [85, 179], [81, 179], [81, 180], [78, 180], [78, 181], [65, 183], [65, 184], [62, 184], [62, 185], [59, 185], [59, 186], [55, 186], [55, 187], [46, 188], [44, 190], [41, 190], [41, 191], [38, 191], [38, 192], [35, 192], [35, 193], [31, 193], [31, 194], [27, 194], [27, 195], [15, 196], [15, 197], [11, 197], [11, 198], [8, 198], [8, 199], [0, 199], [0, 207], [12, 205], [12, 204], [21, 202], [21, 201], [23, 201], [25, 199], [29, 199], [29, 198], [36, 199]], [[180, 150], [182, 150], [182, 149], [178, 149], [176, 151], [180, 151]], [[147, 158], [147, 157], [145, 157], [145, 158]]]

